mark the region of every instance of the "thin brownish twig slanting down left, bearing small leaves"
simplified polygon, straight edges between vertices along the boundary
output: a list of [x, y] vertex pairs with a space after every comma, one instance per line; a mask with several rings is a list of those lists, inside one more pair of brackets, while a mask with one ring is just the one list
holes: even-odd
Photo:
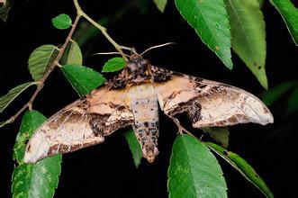
[[44, 74], [44, 76], [42, 76], [41, 81], [39, 82], [39, 85], [37, 86], [34, 94], [32, 94], [31, 99], [29, 100], [28, 103], [25, 103], [23, 105], [23, 107], [14, 114], [14, 116], [12, 116], [10, 119], [8, 119], [10, 122], [13, 122], [27, 107], [29, 108], [29, 110], [32, 110], [32, 103], [35, 100], [36, 96], [40, 93], [42, 86], [44, 85], [44, 82], [46, 81], [46, 79], [48, 78], [48, 76], [50, 76], [50, 73], [53, 71], [53, 69], [57, 66], [57, 63], [59, 63], [60, 58], [62, 57], [64, 50], [66, 49], [66, 47], [68, 46], [68, 42], [69, 40], [71, 40], [71, 37], [77, 27], [77, 23], [80, 19], [81, 15], [77, 14], [77, 18], [75, 20], [75, 22], [73, 23], [71, 30], [68, 33], [68, 37], [65, 40], [64, 44], [62, 45], [62, 47], [59, 49], [59, 53], [57, 55], [57, 57], [55, 58], [55, 60], [50, 64], [49, 69], [47, 70], [47, 72]]

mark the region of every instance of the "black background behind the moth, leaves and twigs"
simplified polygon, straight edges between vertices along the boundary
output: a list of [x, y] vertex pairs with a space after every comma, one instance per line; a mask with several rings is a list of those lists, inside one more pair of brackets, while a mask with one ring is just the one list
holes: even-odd
[[[152, 65], [236, 85], [256, 95], [264, 92], [236, 54], [232, 53], [233, 70], [224, 67], [178, 14], [173, 1], [169, 1], [164, 14], [159, 13], [151, 2], [145, 5], [140, 5], [140, 1], [126, 0], [96, 2], [82, 1], [81, 5], [94, 19], [110, 19], [106, 26], [118, 43], [133, 46], [139, 51], [167, 41], [177, 43], [146, 54], [145, 58]], [[298, 78], [298, 51], [275, 8], [266, 2], [263, 11], [266, 20], [266, 72], [269, 87], [273, 87], [285, 80]], [[15, 85], [31, 80], [27, 60], [33, 49], [42, 44], [58, 45], [64, 42], [68, 31], [56, 30], [50, 22], [52, 17], [61, 13], [75, 18], [72, 1], [14, 1], [7, 23], [0, 22], [0, 95], [6, 94]], [[82, 50], [85, 52], [84, 65], [97, 71], [111, 57], [90, 56], [86, 52], [114, 51], [113, 46], [101, 35], [87, 42]], [[32, 93], [33, 89], [17, 98], [1, 114], [1, 121], [17, 112]], [[33, 108], [49, 117], [77, 98], [76, 92], [57, 69], [46, 81]], [[274, 124], [265, 127], [256, 124], [230, 127], [229, 149], [256, 168], [275, 197], [297, 197], [297, 113], [283, 116], [285, 98], [286, 95], [270, 107], [275, 116]], [[11, 196], [14, 139], [21, 118], [1, 129], [0, 197]], [[186, 121], [185, 126], [189, 125]], [[153, 164], [142, 159], [139, 168], [133, 165], [131, 151], [122, 136], [123, 131], [114, 132], [102, 145], [64, 155], [55, 197], [167, 197], [167, 166], [176, 138], [175, 124], [160, 113], [160, 153]], [[230, 197], [263, 197], [230, 165], [221, 158], [219, 161]]]

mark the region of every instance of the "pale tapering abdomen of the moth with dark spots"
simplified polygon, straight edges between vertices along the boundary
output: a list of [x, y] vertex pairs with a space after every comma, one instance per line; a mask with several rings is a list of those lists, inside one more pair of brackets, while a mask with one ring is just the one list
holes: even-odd
[[133, 130], [143, 157], [153, 162], [158, 155], [158, 97], [150, 83], [132, 86], [128, 96], [134, 115]]

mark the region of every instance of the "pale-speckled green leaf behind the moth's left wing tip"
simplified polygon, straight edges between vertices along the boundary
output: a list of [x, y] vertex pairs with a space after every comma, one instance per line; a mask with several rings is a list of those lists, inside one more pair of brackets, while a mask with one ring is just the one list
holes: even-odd
[[24, 114], [20, 131], [14, 145], [14, 159], [18, 166], [14, 167], [12, 193], [14, 197], [51, 198], [58, 186], [61, 173], [61, 155], [46, 157], [36, 164], [25, 164], [23, 154], [25, 142], [30, 139], [43, 121], [40, 112], [28, 111]]

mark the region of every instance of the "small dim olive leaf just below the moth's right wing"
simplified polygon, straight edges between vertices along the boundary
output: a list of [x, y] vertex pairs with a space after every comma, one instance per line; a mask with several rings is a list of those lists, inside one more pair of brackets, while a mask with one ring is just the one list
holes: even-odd
[[228, 127], [206, 127], [202, 129], [208, 132], [212, 139], [220, 142], [222, 147], [228, 148], [230, 131]]

